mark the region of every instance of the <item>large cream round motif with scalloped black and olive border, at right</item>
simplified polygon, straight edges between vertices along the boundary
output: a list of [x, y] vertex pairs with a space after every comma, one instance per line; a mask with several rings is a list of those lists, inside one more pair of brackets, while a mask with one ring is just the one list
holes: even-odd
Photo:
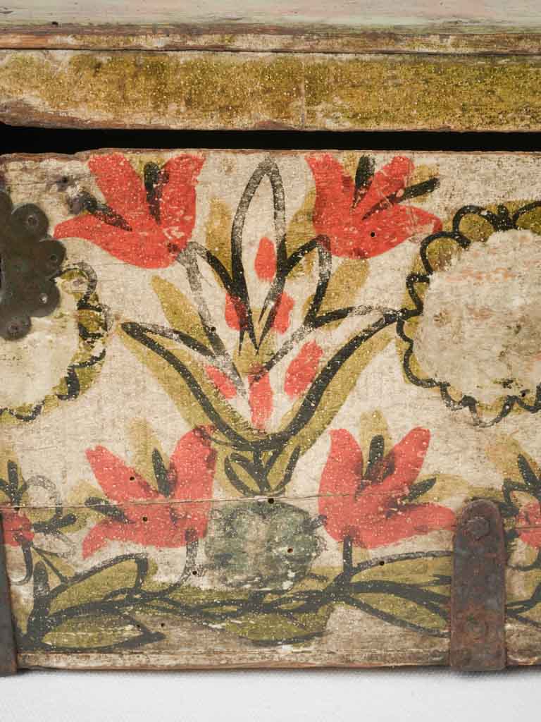
[[[449, 409], [468, 409], [476, 425], [541, 409], [541, 338], [532, 315], [541, 245], [530, 230], [539, 206], [464, 206], [452, 230], [423, 241], [408, 276], [408, 310], [397, 324], [406, 378], [437, 388]], [[491, 344], [480, 344], [488, 323]]]

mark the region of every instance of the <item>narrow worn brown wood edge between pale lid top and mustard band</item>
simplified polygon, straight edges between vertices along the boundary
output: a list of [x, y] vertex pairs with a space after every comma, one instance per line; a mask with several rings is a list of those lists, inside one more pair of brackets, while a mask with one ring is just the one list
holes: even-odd
[[0, 48], [48, 50], [245, 51], [291, 53], [519, 54], [541, 52], [541, 26], [455, 23], [354, 30], [332, 25], [13, 25], [0, 23]]

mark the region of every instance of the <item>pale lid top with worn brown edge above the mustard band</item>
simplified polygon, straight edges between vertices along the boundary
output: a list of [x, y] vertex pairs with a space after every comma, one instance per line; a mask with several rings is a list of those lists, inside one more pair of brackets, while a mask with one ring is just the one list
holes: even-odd
[[382, 0], [331, 6], [307, 0], [195, 6], [7, 0], [0, 32], [4, 48], [538, 53], [541, 22], [535, 0], [415, 0], [398, 11]]

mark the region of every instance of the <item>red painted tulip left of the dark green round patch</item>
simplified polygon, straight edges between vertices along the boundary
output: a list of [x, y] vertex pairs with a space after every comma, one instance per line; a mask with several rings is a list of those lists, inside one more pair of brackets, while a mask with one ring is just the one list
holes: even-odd
[[107, 507], [107, 518], [89, 531], [83, 557], [107, 541], [185, 547], [205, 536], [216, 467], [205, 430], [194, 429], [180, 439], [169, 469], [157, 474], [159, 491], [103, 446], [89, 449], [87, 458], [108, 499], [120, 506]]

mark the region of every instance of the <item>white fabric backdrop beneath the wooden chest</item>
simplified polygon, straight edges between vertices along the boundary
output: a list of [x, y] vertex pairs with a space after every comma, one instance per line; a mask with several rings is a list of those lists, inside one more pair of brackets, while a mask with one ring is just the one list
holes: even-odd
[[541, 669], [31, 671], [0, 679], [1, 722], [499, 722], [535, 719]]

